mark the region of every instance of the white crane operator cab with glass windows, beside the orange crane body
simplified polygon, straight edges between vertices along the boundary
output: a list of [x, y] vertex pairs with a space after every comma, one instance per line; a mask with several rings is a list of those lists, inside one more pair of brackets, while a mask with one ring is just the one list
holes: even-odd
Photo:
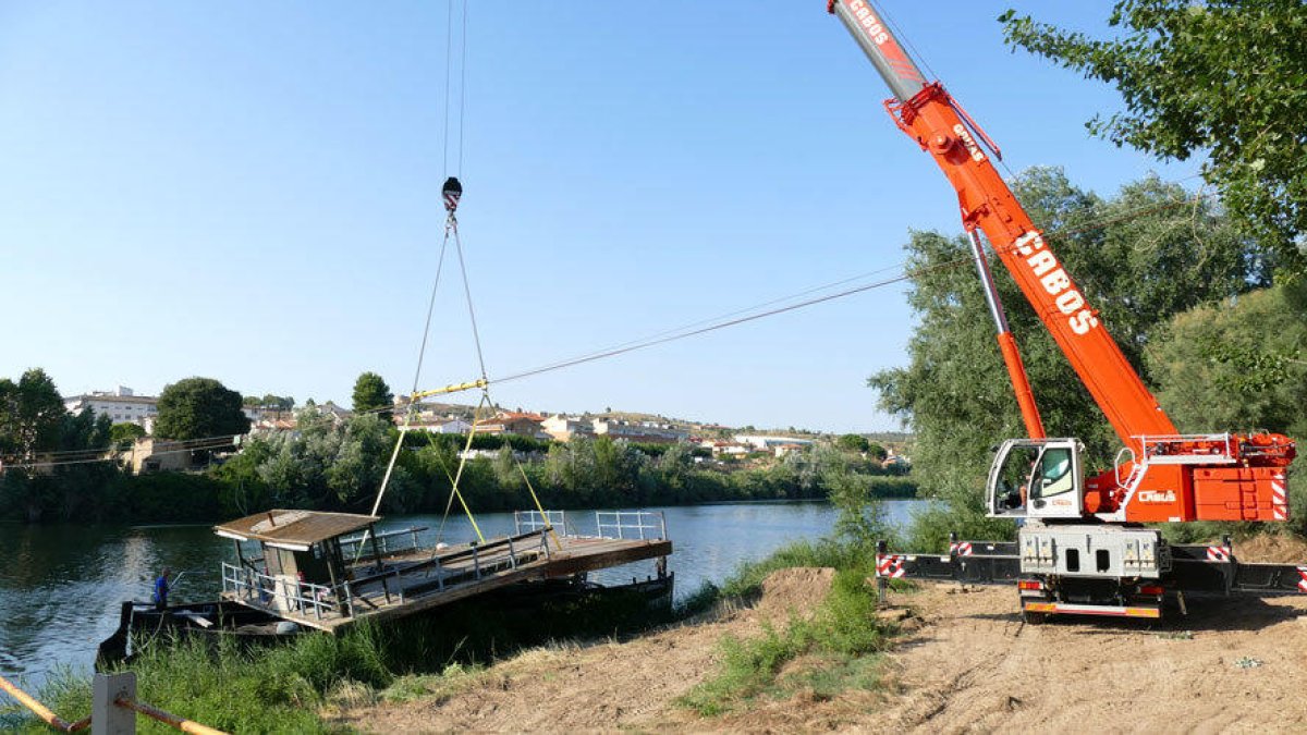
[[1084, 475], [1077, 439], [1008, 439], [987, 485], [991, 518], [1081, 518]]

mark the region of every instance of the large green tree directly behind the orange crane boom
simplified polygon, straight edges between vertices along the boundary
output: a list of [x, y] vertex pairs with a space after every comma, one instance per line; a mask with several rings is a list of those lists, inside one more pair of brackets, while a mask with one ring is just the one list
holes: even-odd
[[[1144, 350], [1159, 323], [1269, 281], [1257, 245], [1179, 186], [1149, 178], [1104, 200], [1060, 170], [1035, 169], [1013, 188], [1145, 379]], [[908, 302], [919, 324], [911, 362], [877, 373], [870, 386], [884, 409], [911, 424], [923, 490], [955, 501], [955, 514], [970, 513], [955, 521], [959, 531], [988, 534], [996, 528], [979, 521], [979, 510], [989, 447], [1025, 429], [967, 252], [965, 237], [912, 234]], [[1080, 437], [1093, 462], [1107, 467], [1116, 438], [1106, 417], [1001, 264], [993, 268], [1048, 433]]]

